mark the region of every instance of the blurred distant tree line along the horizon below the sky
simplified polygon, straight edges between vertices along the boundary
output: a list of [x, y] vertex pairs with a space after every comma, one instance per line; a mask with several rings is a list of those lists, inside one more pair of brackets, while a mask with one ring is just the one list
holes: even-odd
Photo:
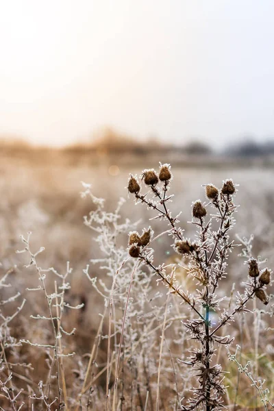
[[192, 138], [185, 142], [182, 138], [180, 144], [174, 145], [170, 141], [164, 142], [153, 136], [142, 140], [134, 138], [128, 134], [117, 132], [112, 127], [105, 127], [90, 138], [90, 142], [79, 142], [61, 149], [50, 149], [42, 146], [28, 144], [23, 138], [18, 136], [0, 136], [0, 149], [2, 154], [18, 152], [31, 153], [33, 151], [59, 151], [69, 155], [122, 155], [129, 153], [135, 156], [142, 156], [149, 153], [162, 153], [172, 155], [182, 153], [182, 155], [208, 156], [208, 155], [228, 155], [231, 157], [251, 158], [257, 156], [274, 155], [274, 138], [264, 142], [258, 142], [253, 138], [242, 138], [238, 142], [227, 142], [226, 147], [221, 151], [216, 151], [207, 141], [201, 138]]

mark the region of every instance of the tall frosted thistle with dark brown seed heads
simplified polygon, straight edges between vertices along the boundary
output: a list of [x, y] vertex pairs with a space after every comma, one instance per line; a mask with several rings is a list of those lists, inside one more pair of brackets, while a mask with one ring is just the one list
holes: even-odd
[[[229, 273], [229, 253], [237, 247], [230, 238], [235, 225], [234, 214], [237, 211], [234, 204], [236, 185], [232, 179], [227, 179], [221, 189], [213, 184], [204, 186], [206, 202], [197, 200], [192, 203], [190, 223], [197, 228], [197, 234], [194, 240], [190, 240], [184, 236], [184, 229], [179, 226], [179, 215], [173, 216], [169, 210], [169, 203], [173, 199], [173, 195], [169, 195], [172, 178], [171, 166], [160, 164], [159, 173], [146, 169], [140, 180], [130, 175], [127, 188], [129, 193], [135, 196], [136, 203], [142, 203], [154, 210], [154, 219], [166, 221], [166, 235], [173, 238], [173, 248], [180, 256], [178, 262], [154, 262], [150, 228], [142, 235], [138, 232], [129, 233], [129, 255], [155, 273], [168, 289], [168, 295], [179, 297], [192, 312], [183, 324], [197, 345], [183, 362], [197, 375], [198, 384], [188, 399], [180, 401], [180, 409], [220, 410], [224, 408], [225, 377], [221, 365], [214, 360], [214, 353], [218, 345], [228, 347], [233, 340], [229, 335], [223, 335], [223, 327], [234, 321], [235, 314], [248, 312], [247, 303], [254, 297], [264, 304], [269, 303], [265, 290], [271, 282], [271, 271], [260, 269], [262, 262], [251, 257], [250, 252], [245, 253], [249, 279], [245, 282], [245, 292], [237, 292], [233, 306], [232, 301], [229, 301], [220, 289]], [[143, 194], [141, 185], [147, 190]], [[182, 288], [176, 279], [176, 271], [182, 266], [197, 283], [195, 294]], [[218, 316], [217, 323], [214, 323], [213, 314]], [[156, 408], [158, 409], [157, 404]]]

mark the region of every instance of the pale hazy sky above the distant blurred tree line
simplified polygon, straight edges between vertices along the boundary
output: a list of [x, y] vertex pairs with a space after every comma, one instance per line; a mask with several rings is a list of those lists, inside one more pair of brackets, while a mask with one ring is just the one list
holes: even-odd
[[0, 134], [274, 136], [273, 0], [0, 0]]

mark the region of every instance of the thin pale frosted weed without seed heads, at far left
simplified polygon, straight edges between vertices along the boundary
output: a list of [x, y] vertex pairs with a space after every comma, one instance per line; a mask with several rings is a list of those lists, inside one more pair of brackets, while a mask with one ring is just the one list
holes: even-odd
[[[69, 402], [67, 398], [66, 390], [66, 375], [64, 371], [64, 359], [73, 357], [75, 353], [68, 352], [63, 340], [66, 336], [73, 336], [75, 334], [75, 328], [65, 329], [65, 325], [62, 322], [62, 317], [67, 309], [80, 310], [84, 304], [78, 304], [77, 306], [71, 306], [66, 302], [65, 292], [71, 288], [68, 280], [68, 276], [71, 274], [72, 269], [69, 266], [69, 262], [66, 264], [66, 271], [64, 274], [58, 273], [53, 267], [49, 269], [42, 269], [37, 261], [37, 256], [44, 251], [44, 247], [40, 247], [36, 253], [33, 253], [30, 249], [30, 236], [31, 232], [28, 232], [27, 238], [21, 236], [24, 248], [17, 253], [27, 253], [29, 256], [29, 264], [25, 265], [25, 268], [34, 267], [38, 276], [40, 284], [36, 287], [27, 288], [27, 291], [40, 293], [47, 301], [47, 314], [35, 314], [30, 317], [38, 322], [42, 321], [44, 326], [40, 329], [50, 330], [50, 334], [47, 337], [46, 343], [40, 341], [30, 341], [21, 339], [21, 343], [29, 345], [30, 347], [38, 347], [43, 353], [45, 353], [49, 372], [47, 382], [40, 381], [38, 383], [38, 395], [32, 393], [29, 395], [29, 399], [32, 399], [34, 403], [40, 403], [39, 407], [45, 407], [47, 410], [62, 410], [62, 408], [69, 409]], [[53, 275], [53, 280], [49, 280], [49, 275]], [[41, 299], [41, 297], [39, 297]], [[49, 327], [45, 324], [49, 324]], [[39, 327], [38, 327], [39, 328]]]

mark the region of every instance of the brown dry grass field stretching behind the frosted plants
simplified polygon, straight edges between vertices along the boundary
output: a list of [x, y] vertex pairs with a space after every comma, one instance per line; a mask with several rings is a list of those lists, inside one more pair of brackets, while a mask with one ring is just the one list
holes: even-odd
[[[161, 159], [160, 159], [161, 160]], [[114, 160], [113, 160], [114, 161]], [[31, 231], [30, 238], [31, 249], [36, 251], [41, 246], [45, 247], [45, 251], [37, 256], [38, 266], [43, 268], [54, 267], [58, 273], [66, 271], [66, 262], [69, 261], [73, 271], [69, 274], [69, 282], [71, 289], [66, 290], [66, 301], [69, 301], [71, 306], [77, 306], [84, 303], [79, 310], [65, 310], [63, 316], [63, 324], [65, 327], [72, 329], [75, 327], [77, 331], [75, 336], [64, 336], [64, 346], [69, 351], [74, 351], [74, 357], [64, 358], [64, 370], [66, 373], [66, 401], [64, 406], [68, 410], [99, 410], [105, 406], [105, 384], [107, 374], [105, 365], [109, 362], [115, 364], [114, 351], [117, 350], [118, 343], [115, 339], [119, 337], [119, 332], [111, 341], [112, 358], [108, 359], [108, 338], [103, 338], [101, 343], [97, 344], [97, 330], [100, 325], [101, 317], [99, 313], [104, 312], [104, 299], [96, 292], [88, 280], [87, 275], [84, 275], [83, 269], [90, 264], [91, 259], [102, 257], [100, 243], [95, 241], [96, 232], [92, 232], [83, 223], [83, 216], [88, 215], [90, 210], [95, 210], [96, 205], [90, 199], [82, 198], [79, 192], [83, 190], [81, 182], [90, 183], [92, 185], [92, 194], [97, 197], [103, 197], [105, 201], [105, 209], [114, 211], [117, 201], [120, 197], [125, 197], [126, 201], [121, 208], [121, 221], [129, 219], [132, 222], [140, 221], [138, 227], [142, 229], [150, 224], [153, 227], [155, 236], [160, 234], [167, 227], [162, 227], [162, 221], [149, 221], [149, 218], [154, 214], [151, 210], [147, 210], [142, 206], [136, 206], [134, 199], [128, 196], [127, 179], [129, 173], [140, 175], [142, 168], [154, 167], [158, 168], [155, 162], [145, 162], [145, 164], [134, 165], [134, 168], [120, 165], [119, 158], [116, 158], [113, 164], [110, 162], [101, 162], [95, 166], [88, 164], [58, 164], [58, 161], [43, 162], [42, 158], [36, 159], [35, 164], [21, 162], [20, 159], [2, 158], [0, 164], [0, 261], [1, 261], [1, 276], [9, 269], [16, 266], [8, 277], [8, 282], [12, 285], [11, 288], [0, 289], [0, 300], [6, 300], [16, 292], [20, 292], [20, 301], [26, 299], [21, 312], [10, 323], [10, 334], [17, 340], [42, 341], [43, 344], [51, 342], [51, 326], [45, 325], [37, 319], [30, 319], [31, 314], [47, 313], [47, 301], [45, 298], [38, 296], [36, 292], [29, 292], [27, 287], [36, 287], [39, 284], [37, 270], [32, 266], [25, 268], [28, 264], [28, 256], [16, 254], [17, 249], [22, 249], [20, 235], [26, 238], [27, 232]], [[72, 162], [73, 163], [73, 162]], [[273, 178], [274, 169], [260, 167], [242, 168], [242, 166], [223, 166], [210, 168], [183, 168], [175, 166], [173, 168], [173, 184], [171, 193], [175, 195], [172, 203], [169, 203], [169, 208], [173, 215], [182, 212], [179, 220], [180, 225], [186, 230], [186, 236], [193, 238], [195, 230], [193, 225], [188, 224], [191, 221], [191, 204], [192, 201], [201, 199], [204, 201], [204, 184], [215, 184], [217, 187], [222, 185], [226, 178], [232, 178], [236, 184], [238, 193], [236, 195], [236, 204], [240, 204], [236, 213], [236, 228], [232, 233], [232, 238], [236, 234], [240, 237], [254, 235], [253, 240], [253, 255], [268, 258], [267, 265], [270, 268], [274, 267], [274, 191]], [[123, 231], [123, 230], [122, 230]], [[127, 233], [119, 234], [119, 247], [127, 248]], [[118, 246], [117, 246], [118, 247]], [[175, 261], [176, 253], [171, 247], [171, 241], [162, 240], [162, 237], [156, 240], [154, 258], [157, 264], [169, 263]], [[240, 251], [239, 251], [240, 252]], [[223, 286], [220, 290], [220, 297], [230, 295], [233, 284], [236, 284], [236, 290], [243, 292], [242, 282], [247, 280], [247, 266], [243, 264], [244, 260], [237, 257], [237, 250], [234, 251], [231, 260], [229, 260], [229, 269], [226, 279], [223, 279]], [[91, 264], [90, 277], [97, 276], [105, 283], [107, 292], [111, 288], [112, 277], [108, 273], [99, 269], [98, 265]], [[180, 277], [180, 275], [182, 277]], [[1, 277], [0, 276], [0, 277]], [[141, 277], [140, 277], [141, 278]], [[141, 281], [141, 279], [140, 279]], [[162, 284], [156, 285], [155, 278], [149, 280], [149, 296], [153, 299], [153, 295], [158, 292], [162, 297], [160, 302], [156, 301], [155, 316], [152, 317], [151, 306], [145, 303], [144, 310], [147, 314], [147, 319], [143, 319], [142, 327], [140, 326], [140, 335], [151, 332], [151, 339], [145, 339], [138, 336], [132, 337], [132, 341], [136, 344], [140, 340], [143, 342], [143, 347], [136, 349], [138, 356], [129, 356], [127, 352], [123, 352], [121, 360], [121, 375], [123, 375], [123, 390], [119, 386], [119, 390], [123, 391], [123, 395], [119, 391], [121, 397], [120, 402], [117, 401], [117, 406], [113, 409], [117, 410], [155, 410], [155, 398], [158, 387], [158, 361], [160, 350], [160, 335], [162, 333], [163, 322], [169, 322], [169, 318], [188, 315], [188, 310], [183, 308], [177, 302], [170, 301], [172, 307], [163, 311], [165, 308], [166, 296], [165, 288]], [[195, 283], [186, 278], [184, 272], [179, 273], [179, 281], [188, 287], [190, 291], [195, 290]], [[49, 279], [49, 292], [54, 293], [54, 281]], [[122, 286], [122, 285], [121, 285]], [[128, 286], [128, 284], [127, 284]], [[126, 285], [125, 293], [127, 292]], [[140, 289], [136, 288], [136, 292]], [[271, 293], [271, 289], [269, 292]], [[104, 293], [103, 292], [103, 293]], [[134, 304], [136, 295], [130, 296]], [[19, 301], [18, 300], [18, 301]], [[20, 301], [10, 303], [3, 306], [5, 316], [11, 315], [14, 312]], [[123, 317], [123, 303], [117, 302], [115, 312], [116, 321], [119, 323]], [[273, 312], [273, 302], [269, 304], [267, 309], [271, 314]], [[160, 307], [160, 308], [159, 308]], [[274, 399], [274, 341], [273, 330], [268, 327], [273, 327], [273, 317], [271, 314], [263, 314], [260, 310], [264, 310], [264, 305], [259, 300], [254, 300], [250, 304], [249, 309], [258, 308], [256, 314], [242, 316], [239, 315], [235, 322], [229, 327], [229, 334], [236, 338], [236, 342], [241, 345], [240, 362], [246, 364], [251, 362], [251, 371], [253, 375], [266, 379], [265, 387], [269, 388], [269, 399], [273, 402]], [[139, 308], [136, 307], [136, 313]], [[150, 310], [150, 311], [149, 311]], [[272, 311], [271, 311], [272, 310]], [[137, 322], [140, 314], [134, 314], [134, 309], [130, 311], [132, 321]], [[166, 312], [167, 319], [166, 319]], [[42, 315], [42, 314], [41, 314]], [[47, 314], [44, 314], [47, 315]], [[136, 316], [137, 315], [137, 316]], [[127, 332], [129, 333], [129, 323], [127, 320]], [[145, 321], [150, 321], [149, 328]], [[174, 320], [175, 321], [175, 320]], [[175, 321], [176, 323], [176, 321]], [[121, 325], [121, 323], [120, 323]], [[100, 336], [107, 336], [109, 327], [109, 312], [105, 313], [105, 319], [101, 328]], [[148, 328], [146, 328], [148, 327]], [[142, 331], [141, 331], [142, 329]], [[151, 331], [149, 331], [151, 330]], [[2, 330], [3, 331], [3, 330]], [[177, 334], [179, 333], [179, 334]], [[127, 335], [127, 338], [128, 335]], [[182, 393], [188, 393], [192, 385], [192, 381], [188, 376], [188, 371], [184, 364], [177, 362], [177, 359], [186, 358], [186, 351], [189, 347], [188, 335], [182, 331], [180, 322], [173, 327], [173, 322], [169, 323], [164, 336], [166, 345], [163, 347], [162, 357], [162, 379], [160, 384], [160, 410], [175, 410], [180, 409], [179, 399], [176, 396]], [[4, 340], [2, 335], [2, 341]], [[177, 341], [176, 341], [177, 340]], [[129, 344], [129, 343], [128, 343]], [[90, 349], [91, 347], [91, 349]], [[92, 348], [93, 347], [93, 348]], [[95, 348], [94, 348], [95, 347]], [[49, 355], [39, 347], [22, 344], [13, 349], [2, 346], [3, 362], [2, 369], [0, 368], [1, 381], [4, 381], [8, 376], [8, 371], [13, 372], [13, 386], [11, 388], [14, 393], [18, 393], [19, 388], [23, 388], [16, 401], [16, 408], [0, 401], [2, 409], [18, 410], [21, 401], [25, 401], [22, 406], [23, 410], [46, 410], [47, 406], [41, 401], [34, 399], [33, 393], [36, 396], [40, 395], [37, 386], [43, 380], [46, 384], [49, 378], [50, 362]], [[90, 351], [96, 349], [97, 353], [93, 352], [92, 371], [88, 378], [91, 384], [86, 384], [86, 369], [88, 367], [88, 359]], [[132, 346], [134, 349], [134, 345]], [[235, 351], [236, 343], [232, 345], [231, 351]], [[148, 356], [146, 356], [146, 350]], [[3, 352], [5, 351], [5, 355]], [[47, 350], [46, 350], [47, 351]], [[5, 358], [6, 356], [6, 358]], [[225, 347], [222, 351], [216, 352], [216, 359], [224, 366], [225, 371], [229, 374], [225, 375], [225, 385], [228, 386], [225, 393], [225, 403], [231, 410], [259, 410], [260, 397], [256, 388], [251, 387], [248, 377], [238, 371], [238, 367], [234, 362], [227, 360]], [[136, 364], [136, 361], [142, 360]], [[33, 369], [25, 366], [10, 366], [10, 370], [4, 366], [5, 362], [26, 364], [32, 363]], [[126, 366], [126, 362], [127, 366]], [[108, 367], [107, 367], [108, 368]], [[113, 387], [115, 367], [111, 366], [108, 371], [109, 386]], [[257, 378], [256, 377], [256, 378]], [[82, 392], [82, 387], [88, 386], [85, 392]], [[8, 384], [8, 383], [7, 383]], [[55, 384], [53, 381], [52, 384]], [[119, 382], [120, 384], [120, 382]], [[179, 386], [179, 388], [175, 388]], [[61, 389], [64, 398], [64, 387]], [[82, 393], [82, 401], [79, 402], [79, 393]], [[52, 389], [51, 400], [53, 401], [56, 391]], [[29, 398], [32, 397], [32, 399]], [[53, 397], [52, 397], [53, 396]], [[122, 397], [125, 397], [125, 399]], [[186, 394], [186, 397], [188, 394]], [[3, 398], [3, 397], [2, 397]], [[1, 399], [1, 397], [0, 397]], [[34, 408], [32, 408], [34, 407]], [[58, 408], [59, 407], [59, 408]], [[55, 406], [55, 403], [48, 410], [62, 409], [62, 404]], [[271, 409], [270, 405], [268, 405]], [[112, 408], [110, 408], [112, 409]]]

